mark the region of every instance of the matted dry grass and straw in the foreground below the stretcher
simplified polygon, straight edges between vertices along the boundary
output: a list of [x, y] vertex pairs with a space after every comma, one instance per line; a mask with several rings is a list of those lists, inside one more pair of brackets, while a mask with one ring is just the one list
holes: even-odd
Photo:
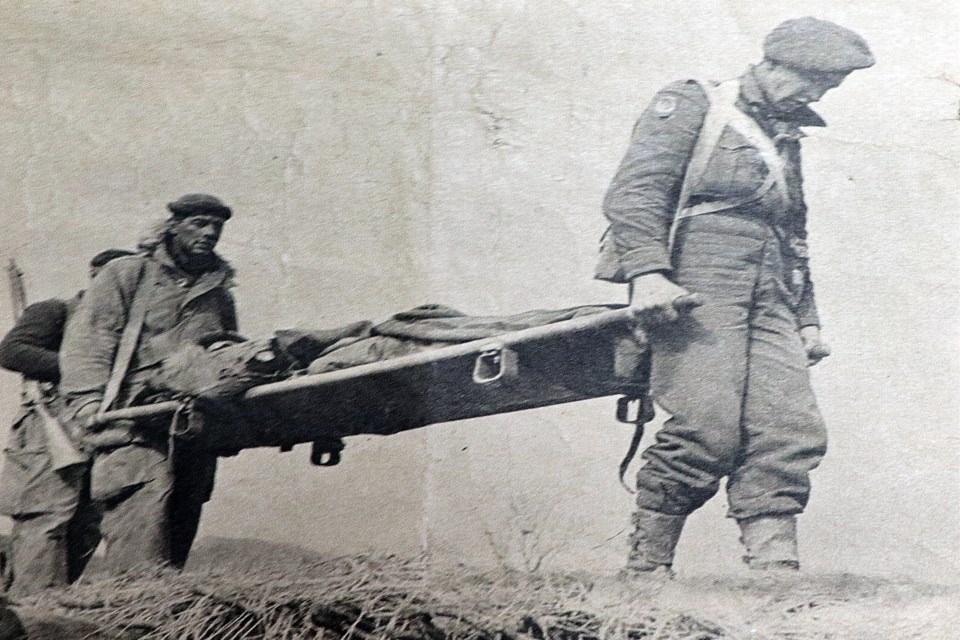
[[586, 579], [435, 570], [423, 560], [341, 558], [280, 572], [156, 572], [29, 604], [141, 638], [190, 640], [714, 640], [694, 616], [598, 610]]

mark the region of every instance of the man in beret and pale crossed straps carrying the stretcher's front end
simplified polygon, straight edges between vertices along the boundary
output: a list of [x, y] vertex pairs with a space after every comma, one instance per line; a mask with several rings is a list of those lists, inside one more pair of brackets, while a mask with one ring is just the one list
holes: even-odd
[[[801, 127], [809, 104], [874, 64], [856, 33], [788, 20], [764, 59], [724, 83], [662, 89], [604, 200], [597, 277], [674, 322], [651, 335], [670, 419], [643, 454], [626, 574], [669, 574], [687, 516], [727, 479], [751, 569], [799, 568], [796, 516], [826, 432], [807, 367], [829, 353], [807, 268]], [[677, 319], [688, 292], [702, 305]]]

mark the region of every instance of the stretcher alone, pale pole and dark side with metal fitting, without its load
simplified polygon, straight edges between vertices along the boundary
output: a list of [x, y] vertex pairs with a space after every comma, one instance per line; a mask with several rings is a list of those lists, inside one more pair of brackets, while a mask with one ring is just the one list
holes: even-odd
[[[678, 309], [695, 305], [685, 300]], [[361, 434], [619, 396], [617, 417], [649, 419], [649, 354], [630, 308], [260, 385], [237, 401], [241, 419], [211, 420], [196, 444], [212, 450], [289, 448]], [[173, 417], [175, 401], [100, 419]]]

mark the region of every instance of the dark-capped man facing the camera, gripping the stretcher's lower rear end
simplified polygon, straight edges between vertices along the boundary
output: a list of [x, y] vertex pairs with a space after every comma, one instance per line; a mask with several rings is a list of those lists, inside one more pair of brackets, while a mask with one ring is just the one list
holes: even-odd
[[98, 412], [161, 399], [149, 378], [187, 343], [236, 331], [233, 270], [214, 249], [231, 210], [188, 194], [141, 241], [108, 264], [67, 325], [60, 355], [67, 415], [96, 449], [91, 494], [103, 509], [106, 564], [182, 567], [213, 491], [216, 457], [177, 443], [169, 425], [94, 425]]

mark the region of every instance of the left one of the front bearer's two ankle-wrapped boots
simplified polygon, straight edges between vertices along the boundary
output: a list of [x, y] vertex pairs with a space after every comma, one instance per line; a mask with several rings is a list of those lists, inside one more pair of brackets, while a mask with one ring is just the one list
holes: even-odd
[[686, 519], [686, 516], [637, 509], [633, 514], [634, 531], [630, 536], [627, 566], [620, 577], [671, 577], [673, 554]]

